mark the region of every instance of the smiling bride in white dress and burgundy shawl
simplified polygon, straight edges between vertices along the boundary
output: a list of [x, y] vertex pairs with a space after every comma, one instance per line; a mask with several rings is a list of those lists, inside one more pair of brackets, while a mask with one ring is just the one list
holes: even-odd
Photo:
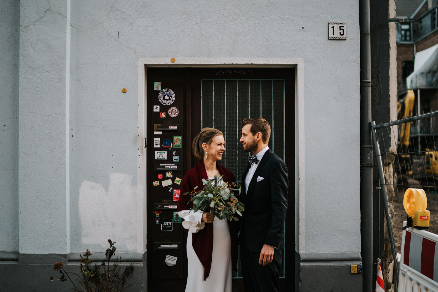
[[[199, 162], [189, 170], [181, 183], [181, 193], [190, 192], [202, 179], [217, 174], [226, 182], [236, 179], [228, 169], [217, 163], [225, 151], [221, 131], [204, 128], [193, 140], [192, 150]], [[186, 292], [231, 292], [231, 269], [237, 271], [237, 231], [239, 221], [220, 220], [211, 213], [194, 212], [191, 196], [180, 196], [178, 215], [187, 230], [188, 275]]]

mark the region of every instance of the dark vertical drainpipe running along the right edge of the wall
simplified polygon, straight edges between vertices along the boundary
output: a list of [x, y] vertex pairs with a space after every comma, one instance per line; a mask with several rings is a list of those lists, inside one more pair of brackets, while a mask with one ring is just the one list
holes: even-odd
[[360, 243], [362, 291], [373, 290], [373, 150], [371, 140], [370, 0], [359, 0], [360, 26]]

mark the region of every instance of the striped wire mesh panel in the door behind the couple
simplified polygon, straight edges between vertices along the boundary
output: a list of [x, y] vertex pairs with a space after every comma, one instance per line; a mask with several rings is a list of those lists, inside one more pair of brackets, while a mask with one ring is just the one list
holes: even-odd
[[[284, 99], [283, 79], [201, 80], [201, 129], [212, 127], [223, 132], [226, 151], [221, 164], [239, 183], [248, 163], [248, 153], [239, 143], [244, 118], [262, 117], [269, 122], [269, 148], [285, 160]], [[240, 271], [240, 261], [238, 264]], [[233, 272], [233, 277], [241, 275]], [[284, 277], [284, 260], [280, 277]]]

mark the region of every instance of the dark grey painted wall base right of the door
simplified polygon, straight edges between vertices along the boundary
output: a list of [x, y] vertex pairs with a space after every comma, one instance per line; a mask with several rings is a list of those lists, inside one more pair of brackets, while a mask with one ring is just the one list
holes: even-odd
[[301, 262], [300, 292], [362, 291], [362, 274], [352, 274], [357, 261]]

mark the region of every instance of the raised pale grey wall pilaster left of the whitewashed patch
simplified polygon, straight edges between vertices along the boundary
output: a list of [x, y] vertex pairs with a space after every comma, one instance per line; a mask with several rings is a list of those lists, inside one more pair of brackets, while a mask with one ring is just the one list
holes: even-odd
[[66, 252], [65, 1], [20, 3], [19, 252]]

